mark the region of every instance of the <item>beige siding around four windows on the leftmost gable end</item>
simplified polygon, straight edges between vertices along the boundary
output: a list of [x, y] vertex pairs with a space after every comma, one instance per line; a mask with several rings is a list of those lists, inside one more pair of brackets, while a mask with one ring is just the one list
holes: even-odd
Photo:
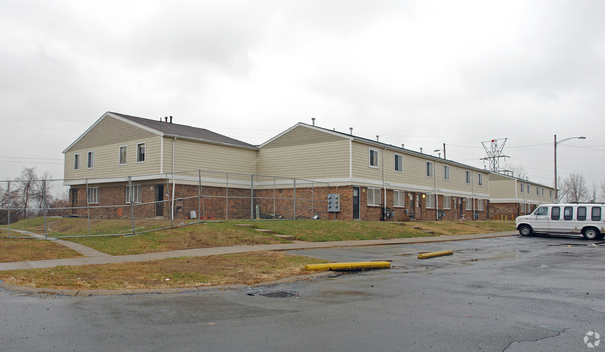
[[[145, 142], [145, 162], [137, 163], [137, 144]], [[105, 117], [65, 152], [65, 179], [108, 178], [160, 172], [161, 137], [155, 133]], [[128, 145], [127, 164], [119, 165], [120, 146]], [[87, 155], [94, 150], [94, 168]], [[73, 169], [74, 154], [81, 153], [80, 170]]]

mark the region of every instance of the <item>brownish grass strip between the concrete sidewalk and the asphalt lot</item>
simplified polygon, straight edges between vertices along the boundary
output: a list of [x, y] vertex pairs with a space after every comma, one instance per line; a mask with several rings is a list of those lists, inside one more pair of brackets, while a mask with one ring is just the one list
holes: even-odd
[[92, 290], [252, 285], [311, 274], [312, 272], [304, 270], [305, 264], [329, 262], [282, 252], [258, 251], [128, 264], [0, 271], [0, 280], [17, 286]]

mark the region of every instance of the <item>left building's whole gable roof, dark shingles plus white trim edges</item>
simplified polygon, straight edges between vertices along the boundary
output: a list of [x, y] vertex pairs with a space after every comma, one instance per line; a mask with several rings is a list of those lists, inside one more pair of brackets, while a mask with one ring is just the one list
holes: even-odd
[[74, 146], [83, 136], [85, 136], [91, 129], [94, 128], [103, 118], [113, 117], [117, 120], [131, 124], [133, 126], [140, 127], [147, 130], [148, 132], [155, 133], [156, 135], [166, 137], [177, 137], [182, 139], [191, 139], [193, 141], [209, 142], [213, 144], [223, 144], [226, 146], [242, 147], [246, 149], [258, 148], [252, 144], [238, 141], [237, 139], [221, 135], [219, 133], [212, 132], [211, 130], [201, 129], [198, 127], [186, 126], [183, 124], [168, 123], [163, 121], [149, 120], [148, 118], [136, 117], [131, 115], [119, 114], [117, 112], [106, 112], [99, 120], [97, 120], [93, 126], [89, 127], [79, 138], [67, 147], [63, 153], [67, 152], [71, 147]]

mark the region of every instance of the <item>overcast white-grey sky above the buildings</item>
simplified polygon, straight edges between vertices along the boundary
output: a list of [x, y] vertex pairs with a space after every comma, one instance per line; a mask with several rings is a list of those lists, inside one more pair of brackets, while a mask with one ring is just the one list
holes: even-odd
[[[106, 111], [261, 144], [298, 122], [605, 180], [603, 1], [0, 0], [0, 178]], [[504, 164], [501, 161], [500, 164]], [[279, 175], [276, 175], [279, 176]]]

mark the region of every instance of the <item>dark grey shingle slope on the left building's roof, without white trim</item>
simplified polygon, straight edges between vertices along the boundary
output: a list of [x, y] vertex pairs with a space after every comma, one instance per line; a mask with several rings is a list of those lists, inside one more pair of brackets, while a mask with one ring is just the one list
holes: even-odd
[[237, 139], [230, 138], [227, 136], [220, 135], [218, 133], [209, 131], [207, 129], [200, 129], [198, 127], [186, 126], [183, 124], [168, 123], [158, 120], [149, 120], [148, 118], [141, 118], [136, 116], [119, 114], [117, 112], [111, 112], [111, 114], [125, 118], [126, 120], [132, 121], [137, 124], [141, 124], [150, 129], [157, 130], [158, 132], [165, 133], [170, 136], [177, 136], [182, 138], [201, 139], [204, 141], [218, 142], [223, 144], [232, 144], [234, 146], [256, 148], [252, 144], [238, 141]]

